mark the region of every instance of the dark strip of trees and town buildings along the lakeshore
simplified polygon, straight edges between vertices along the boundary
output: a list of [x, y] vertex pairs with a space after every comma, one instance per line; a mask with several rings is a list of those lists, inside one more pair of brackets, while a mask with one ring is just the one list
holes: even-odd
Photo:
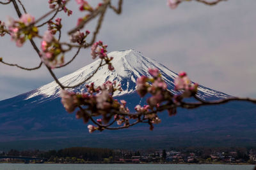
[[50, 164], [256, 164], [256, 148], [184, 147], [122, 150], [72, 147], [0, 152], [0, 163]]

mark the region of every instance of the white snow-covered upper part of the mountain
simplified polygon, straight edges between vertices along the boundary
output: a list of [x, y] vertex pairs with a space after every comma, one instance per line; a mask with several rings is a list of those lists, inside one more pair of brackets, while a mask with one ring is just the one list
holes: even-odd
[[[118, 92], [115, 96], [122, 96], [124, 94], [130, 94], [136, 90], [136, 80], [141, 75], [150, 76], [148, 74], [148, 68], [157, 68], [161, 71], [163, 75], [164, 81], [166, 81], [168, 85], [168, 89], [173, 91], [173, 79], [177, 76], [176, 73], [163, 66], [163, 64], [159, 64], [155, 60], [144, 57], [141, 52], [136, 50], [123, 50], [108, 53], [108, 56], [113, 57], [112, 64], [115, 67], [114, 71], [109, 71], [107, 66], [102, 66], [99, 68], [99, 71], [90, 78], [86, 84], [90, 84], [92, 82], [95, 85], [102, 85], [102, 83], [109, 81], [116, 81], [122, 85], [122, 92]], [[74, 86], [82, 82], [89, 76], [93, 74], [95, 69], [99, 66], [100, 59], [95, 60], [92, 64], [85, 66], [74, 73], [68, 74], [67, 76], [63, 76], [60, 78], [60, 82], [65, 86]], [[85, 83], [79, 85], [74, 90], [76, 92], [84, 92]], [[173, 91], [174, 92], [174, 91]], [[206, 87], [200, 86], [198, 88], [198, 94], [203, 99], [207, 99], [209, 97], [214, 98], [225, 98], [229, 97], [227, 94], [223, 94], [221, 92], [217, 92], [215, 90], [208, 89]], [[58, 97], [60, 94], [60, 87], [55, 82], [52, 81], [47, 85], [36, 89], [35, 92], [30, 94], [26, 99], [30, 99], [35, 96], [43, 95], [44, 97]]]

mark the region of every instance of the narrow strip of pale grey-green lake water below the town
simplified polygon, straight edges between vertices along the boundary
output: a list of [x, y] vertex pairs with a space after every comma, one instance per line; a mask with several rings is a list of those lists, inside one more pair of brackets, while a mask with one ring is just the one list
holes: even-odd
[[4, 170], [51, 170], [51, 169], [93, 169], [93, 170], [153, 170], [153, 169], [189, 169], [189, 170], [252, 170], [253, 165], [220, 165], [220, 164], [0, 164], [0, 169]]

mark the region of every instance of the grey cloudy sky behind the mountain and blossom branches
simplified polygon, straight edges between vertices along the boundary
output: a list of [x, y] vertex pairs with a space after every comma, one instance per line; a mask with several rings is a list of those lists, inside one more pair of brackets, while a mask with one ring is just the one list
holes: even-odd
[[[97, 4], [100, 1], [91, 0]], [[22, 0], [35, 18], [49, 11], [47, 1]], [[114, 0], [113, 4], [117, 4]], [[171, 10], [165, 0], [124, 0], [123, 12], [108, 10], [97, 40], [108, 51], [134, 49], [175, 73], [186, 71], [191, 80], [232, 96], [256, 97], [256, 13], [255, 0], [229, 0], [217, 6], [184, 2]], [[73, 0], [68, 4], [74, 15], [63, 18], [63, 36], [85, 14]], [[0, 20], [17, 19], [12, 4], [0, 5]], [[86, 25], [92, 31], [95, 22]], [[43, 34], [47, 27], [42, 27]], [[39, 45], [40, 41], [36, 40]], [[67, 53], [72, 57], [74, 51]], [[34, 67], [40, 62], [29, 42], [17, 48], [10, 36], [0, 37], [0, 57], [5, 62]], [[90, 50], [63, 69], [54, 69], [60, 78], [93, 62]], [[114, 66], [115, 67], [115, 66]], [[45, 66], [23, 71], [0, 63], [0, 100], [17, 96], [53, 81]]]

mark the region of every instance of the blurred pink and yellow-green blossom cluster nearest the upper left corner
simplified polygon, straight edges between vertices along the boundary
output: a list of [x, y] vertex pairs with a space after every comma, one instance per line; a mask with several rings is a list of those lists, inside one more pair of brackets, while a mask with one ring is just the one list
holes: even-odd
[[35, 17], [28, 13], [22, 15], [19, 20], [9, 18], [8, 31], [17, 46], [22, 46], [27, 39], [31, 39], [38, 35], [38, 29], [33, 25]]

